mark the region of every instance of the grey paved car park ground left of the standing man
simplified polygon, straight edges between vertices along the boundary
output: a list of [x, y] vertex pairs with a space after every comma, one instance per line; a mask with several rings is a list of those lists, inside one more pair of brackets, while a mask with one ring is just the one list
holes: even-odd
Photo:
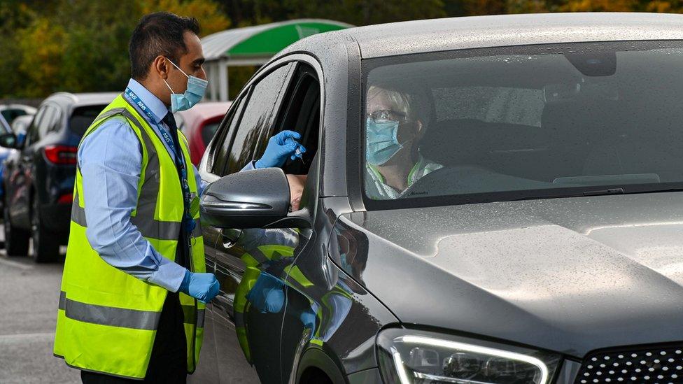
[[61, 280], [62, 264], [0, 252], [0, 383], [80, 383], [52, 356]]

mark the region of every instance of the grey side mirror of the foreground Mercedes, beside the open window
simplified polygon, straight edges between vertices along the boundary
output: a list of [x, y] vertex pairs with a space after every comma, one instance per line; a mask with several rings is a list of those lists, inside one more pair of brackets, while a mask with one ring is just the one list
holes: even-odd
[[211, 183], [202, 194], [202, 221], [218, 228], [292, 228], [290, 192], [282, 169], [266, 168], [232, 173]]

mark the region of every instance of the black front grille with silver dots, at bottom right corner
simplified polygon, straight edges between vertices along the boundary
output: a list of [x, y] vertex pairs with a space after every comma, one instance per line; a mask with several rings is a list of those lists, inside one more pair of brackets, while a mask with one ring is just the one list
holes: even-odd
[[575, 384], [683, 383], [683, 345], [591, 353]]

